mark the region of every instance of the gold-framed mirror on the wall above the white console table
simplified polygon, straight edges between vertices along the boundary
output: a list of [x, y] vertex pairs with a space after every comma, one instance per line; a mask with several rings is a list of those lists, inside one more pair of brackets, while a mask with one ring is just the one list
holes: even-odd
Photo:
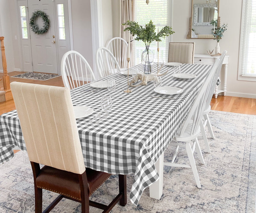
[[220, 0], [192, 0], [187, 38], [213, 39], [211, 24], [220, 26]]

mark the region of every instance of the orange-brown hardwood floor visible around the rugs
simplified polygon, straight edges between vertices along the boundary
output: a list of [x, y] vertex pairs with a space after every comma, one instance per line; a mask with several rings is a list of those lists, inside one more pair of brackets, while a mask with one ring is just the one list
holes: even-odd
[[[9, 72], [8, 75], [13, 76], [21, 73], [23, 72]], [[3, 76], [3, 73], [0, 73], [0, 78], [1, 76]], [[64, 87], [61, 76], [46, 81], [10, 78], [10, 82], [12, 81]], [[0, 81], [0, 88], [3, 89], [3, 81]], [[240, 98], [218, 95], [218, 98], [212, 98], [211, 107], [212, 110], [256, 115], [256, 99], [253, 98]], [[15, 110], [13, 100], [0, 103], [0, 115], [12, 110]]]

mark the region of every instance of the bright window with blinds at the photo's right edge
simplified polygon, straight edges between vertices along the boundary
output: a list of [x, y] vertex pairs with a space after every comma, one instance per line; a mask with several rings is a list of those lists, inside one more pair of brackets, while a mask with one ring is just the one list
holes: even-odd
[[256, 0], [244, 0], [238, 80], [256, 81]]

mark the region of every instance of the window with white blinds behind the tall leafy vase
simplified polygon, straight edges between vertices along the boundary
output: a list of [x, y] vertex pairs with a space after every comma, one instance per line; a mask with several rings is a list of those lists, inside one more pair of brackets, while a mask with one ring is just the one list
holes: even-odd
[[[135, 21], [139, 25], [145, 26], [145, 24], [152, 20], [154, 25], [156, 25], [157, 33], [158, 28], [160, 31], [164, 26], [170, 26], [169, 6], [169, 0], [154, 0], [150, 1], [148, 5], [145, 0], [136, 0]], [[168, 60], [169, 37], [161, 39], [162, 42], [159, 42], [159, 61], [163, 59], [164, 62], [167, 62]], [[133, 47], [134, 63], [140, 64], [141, 54], [145, 50], [145, 44], [142, 41], [135, 41]], [[154, 52], [154, 62], [157, 62], [157, 42], [152, 42], [150, 49]]]

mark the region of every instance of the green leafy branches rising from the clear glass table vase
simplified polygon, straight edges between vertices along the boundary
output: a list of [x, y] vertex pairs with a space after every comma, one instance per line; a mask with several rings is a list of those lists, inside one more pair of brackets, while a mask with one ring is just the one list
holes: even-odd
[[156, 34], [156, 26], [153, 24], [152, 20], [150, 20], [149, 23], [145, 25], [145, 27], [139, 25], [138, 22], [129, 20], [122, 25], [128, 26], [124, 29], [124, 31], [129, 30], [132, 36], [136, 36], [134, 40], [141, 40], [145, 43], [146, 46], [149, 46], [153, 41], [161, 42], [161, 38], [165, 38], [166, 36], [175, 33], [172, 31], [172, 27], [165, 26], [159, 31], [159, 33]]

